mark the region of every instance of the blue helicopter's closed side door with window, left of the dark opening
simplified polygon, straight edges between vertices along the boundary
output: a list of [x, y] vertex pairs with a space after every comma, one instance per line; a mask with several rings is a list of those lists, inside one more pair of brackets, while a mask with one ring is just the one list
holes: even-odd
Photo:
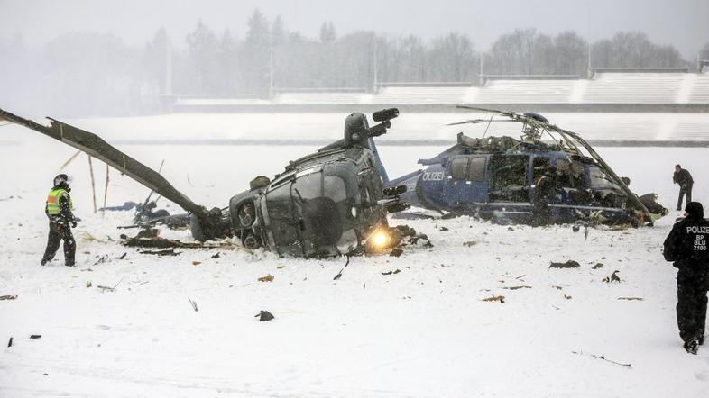
[[452, 158], [448, 165], [447, 192], [453, 207], [471, 209], [487, 199], [486, 156]]

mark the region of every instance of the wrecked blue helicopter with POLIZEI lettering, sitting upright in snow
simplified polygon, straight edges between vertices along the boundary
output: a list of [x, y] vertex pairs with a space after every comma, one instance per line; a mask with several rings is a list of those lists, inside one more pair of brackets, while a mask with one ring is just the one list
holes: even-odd
[[[434, 158], [419, 159], [425, 168], [389, 179], [373, 142], [385, 188], [414, 207], [444, 217], [473, 215], [499, 223], [652, 225], [668, 213], [656, 194], [638, 196], [578, 134], [548, 122], [538, 113], [511, 113], [458, 106], [492, 113], [489, 119], [458, 124], [517, 122], [520, 139], [510, 136], [471, 138], [462, 132], [457, 143]], [[551, 189], [541, 196], [542, 179]], [[539, 185], [541, 186], [541, 185]], [[545, 185], [546, 186], [546, 185]], [[538, 192], [535, 192], [538, 191]], [[540, 213], [546, 221], [539, 222]]]

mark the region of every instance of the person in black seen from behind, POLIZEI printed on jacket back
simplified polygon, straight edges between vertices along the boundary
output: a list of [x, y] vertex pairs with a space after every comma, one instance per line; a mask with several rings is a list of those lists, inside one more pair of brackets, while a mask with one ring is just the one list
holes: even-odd
[[677, 271], [677, 326], [686, 352], [696, 354], [704, 344], [706, 292], [709, 290], [709, 221], [698, 202], [686, 204], [685, 218], [675, 223], [665, 240], [663, 255]]

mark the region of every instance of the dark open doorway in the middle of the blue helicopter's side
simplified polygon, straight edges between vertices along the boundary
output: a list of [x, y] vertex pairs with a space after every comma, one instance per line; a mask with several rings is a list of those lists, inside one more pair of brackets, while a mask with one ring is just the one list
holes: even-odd
[[528, 168], [529, 155], [491, 156], [488, 177], [490, 202], [529, 204]]

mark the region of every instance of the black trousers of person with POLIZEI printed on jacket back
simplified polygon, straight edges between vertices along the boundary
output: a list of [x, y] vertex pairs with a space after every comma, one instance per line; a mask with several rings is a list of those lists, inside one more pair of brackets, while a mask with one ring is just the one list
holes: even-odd
[[677, 272], [677, 326], [683, 341], [704, 336], [709, 274], [680, 269]]

